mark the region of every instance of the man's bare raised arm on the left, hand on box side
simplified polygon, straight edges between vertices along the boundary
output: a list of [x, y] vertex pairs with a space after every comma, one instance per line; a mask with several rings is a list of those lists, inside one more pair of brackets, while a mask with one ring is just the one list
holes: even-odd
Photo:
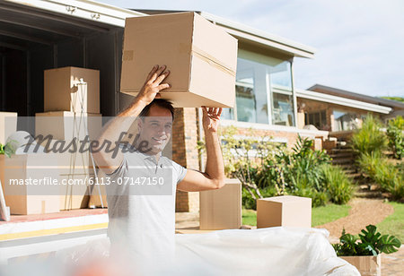
[[[160, 95], [157, 93], [170, 87], [168, 83], [161, 84], [170, 73], [170, 71], [164, 72], [165, 68], [165, 65], [161, 67], [154, 65], [145, 80], [145, 85], [130, 106], [102, 128], [101, 135], [98, 137], [95, 146], [92, 146], [92, 156], [98, 167], [105, 173], [110, 174], [119, 168], [123, 160], [123, 154], [119, 148], [112, 151], [114, 147], [119, 147], [115, 142], [123, 138], [122, 135], [127, 133], [129, 127], [135, 122], [136, 117], [143, 108], [151, 103], [154, 98], [159, 98]], [[111, 144], [111, 151], [106, 151], [106, 145], [109, 143]]]

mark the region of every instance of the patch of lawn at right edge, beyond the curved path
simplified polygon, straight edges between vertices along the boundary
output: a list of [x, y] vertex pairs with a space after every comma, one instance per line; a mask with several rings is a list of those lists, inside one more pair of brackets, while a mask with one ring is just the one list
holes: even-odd
[[382, 235], [393, 235], [404, 243], [404, 203], [389, 203], [394, 207], [394, 212], [377, 224], [377, 229]]

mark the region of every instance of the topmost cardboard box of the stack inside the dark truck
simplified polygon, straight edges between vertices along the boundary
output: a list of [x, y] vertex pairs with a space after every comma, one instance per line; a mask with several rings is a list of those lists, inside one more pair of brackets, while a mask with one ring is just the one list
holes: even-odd
[[100, 113], [100, 71], [79, 67], [45, 70], [44, 110]]

